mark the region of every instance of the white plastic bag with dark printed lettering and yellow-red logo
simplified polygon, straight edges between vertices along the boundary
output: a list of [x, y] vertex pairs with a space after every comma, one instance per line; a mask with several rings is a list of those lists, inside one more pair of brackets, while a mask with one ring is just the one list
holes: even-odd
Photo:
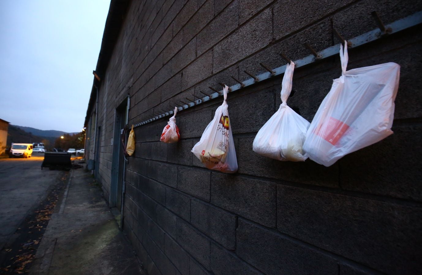
[[214, 119], [205, 128], [199, 142], [193, 146], [192, 153], [208, 169], [235, 173], [238, 165], [226, 103], [228, 89], [224, 87], [224, 102], [215, 111]]

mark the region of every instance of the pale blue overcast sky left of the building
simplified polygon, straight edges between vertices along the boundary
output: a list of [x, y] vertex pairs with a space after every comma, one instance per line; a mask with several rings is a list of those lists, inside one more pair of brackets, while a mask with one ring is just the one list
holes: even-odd
[[0, 119], [80, 132], [110, 0], [0, 0]]

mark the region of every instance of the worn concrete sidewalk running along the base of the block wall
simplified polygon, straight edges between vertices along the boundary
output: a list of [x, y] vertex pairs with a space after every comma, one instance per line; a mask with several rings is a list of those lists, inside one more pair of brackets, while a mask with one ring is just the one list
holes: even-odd
[[144, 274], [91, 174], [71, 171], [30, 274]]

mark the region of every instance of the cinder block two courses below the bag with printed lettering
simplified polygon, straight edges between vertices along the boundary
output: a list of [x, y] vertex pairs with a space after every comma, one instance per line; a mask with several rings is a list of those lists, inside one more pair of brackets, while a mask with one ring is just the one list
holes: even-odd
[[198, 200], [191, 200], [193, 226], [229, 250], [236, 248], [236, 216]]

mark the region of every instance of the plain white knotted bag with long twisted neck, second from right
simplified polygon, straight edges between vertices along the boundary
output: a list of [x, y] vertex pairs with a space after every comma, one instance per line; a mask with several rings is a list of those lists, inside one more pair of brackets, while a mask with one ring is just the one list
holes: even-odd
[[279, 110], [258, 131], [252, 147], [254, 152], [262, 156], [298, 162], [308, 158], [302, 146], [310, 123], [287, 106], [287, 98], [292, 91], [293, 70], [295, 63], [290, 62], [281, 84]]

